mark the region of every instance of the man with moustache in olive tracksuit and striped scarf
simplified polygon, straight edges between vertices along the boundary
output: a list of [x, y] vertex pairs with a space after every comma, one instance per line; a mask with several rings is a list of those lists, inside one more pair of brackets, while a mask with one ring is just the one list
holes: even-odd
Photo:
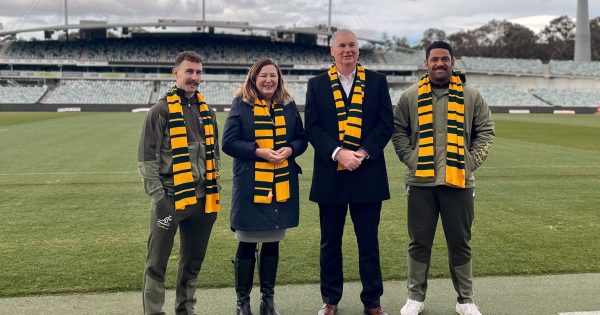
[[[150, 209], [150, 235], [148, 236], [148, 256], [144, 269], [143, 307], [144, 314], [165, 314], [162, 307], [165, 301], [165, 273], [171, 255], [175, 233], [179, 228], [180, 249], [179, 269], [175, 288], [175, 314], [195, 314], [194, 293], [198, 286], [198, 273], [206, 254], [208, 239], [213, 223], [217, 218], [216, 212], [207, 209], [206, 196], [208, 195], [207, 151], [209, 137], [205, 132], [200, 92], [197, 91], [202, 63], [200, 56], [193, 51], [182, 52], [175, 60], [173, 76], [175, 86], [167, 93], [176, 94], [180, 100], [183, 125], [187, 138], [187, 152], [189, 161], [181, 163], [181, 149], [173, 149], [173, 139], [181, 139], [179, 135], [172, 135], [170, 119], [176, 114], [171, 112], [173, 104], [168, 103], [166, 96], [161, 98], [146, 115], [138, 150], [138, 168], [146, 194], [151, 199]], [[217, 120], [214, 111], [208, 108], [212, 120], [215, 140], [214, 158], [216, 172], [219, 170], [219, 151], [217, 139]], [[208, 120], [206, 120], [208, 121]], [[181, 127], [179, 127], [181, 129]], [[187, 169], [176, 166], [174, 163], [188, 165]], [[175, 193], [177, 187], [174, 183], [175, 175], [191, 174], [191, 182], [187, 190], [191, 190], [191, 199], [195, 203], [188, 203], [182, 209], [176, 208]], [[218, 211], [218, 210], [217, 210]]]

